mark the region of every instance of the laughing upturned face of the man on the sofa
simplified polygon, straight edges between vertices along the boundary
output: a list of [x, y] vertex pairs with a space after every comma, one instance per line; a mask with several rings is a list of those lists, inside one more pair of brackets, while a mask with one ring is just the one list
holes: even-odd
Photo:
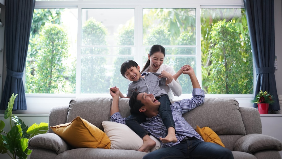
[[140, 100], [141, 103], [144, 104], [144, 108], [147, 109], [147, 111], [156, 111], [157, 109], [159, 109], [160, 106], [160, 102], [158, 100], [156, 100], [156, 98], [154, 97], [153, 94], [147, 94], [147, 93], [139, 93], [137, 95], [137, 100]]

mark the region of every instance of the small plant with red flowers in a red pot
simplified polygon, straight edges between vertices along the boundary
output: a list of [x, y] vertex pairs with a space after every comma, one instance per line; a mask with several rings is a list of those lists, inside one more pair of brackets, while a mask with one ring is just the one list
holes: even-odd
[[268, 114], [269, 104], [273, 104], [274, 100], [270, 93], [260, 90], [252, 102], [258, 104], [258, 110], [260, 114]]

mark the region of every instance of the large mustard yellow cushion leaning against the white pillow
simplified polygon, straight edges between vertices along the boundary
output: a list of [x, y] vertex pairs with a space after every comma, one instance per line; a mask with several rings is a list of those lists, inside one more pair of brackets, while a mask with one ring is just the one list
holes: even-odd
[[66, 124], [50, 127], [55, 134], [74, 148], [110, 149], [111, 147], [110, 139], [106, 133], [81, 117], [76, 117]]

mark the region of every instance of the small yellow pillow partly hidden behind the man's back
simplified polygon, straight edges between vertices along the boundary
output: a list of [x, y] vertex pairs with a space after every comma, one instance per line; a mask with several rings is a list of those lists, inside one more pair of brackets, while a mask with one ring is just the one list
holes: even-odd
[[218, 135], [211, 128], [209, 128], [207, 126], [200, 128], [197, 125], [196, 131], [197, 131], [197, 133], [199, 133], [201, 135], [201, 137], [203, 138], [203, 140], [205, 142], [211, 142], [211, 143], [219, 144], [220, 146], [225, 148], [224, 144], [221, 142]]

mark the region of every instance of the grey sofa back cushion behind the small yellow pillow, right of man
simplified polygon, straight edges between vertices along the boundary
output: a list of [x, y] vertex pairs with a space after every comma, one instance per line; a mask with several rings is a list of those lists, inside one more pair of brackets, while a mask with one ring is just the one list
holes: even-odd
[[239, 104], [234, 98], [205, 98], [199, 107], [183, 114], [188, 123], [196, 129], [210, 127], [217, 135], [246, 135]]

